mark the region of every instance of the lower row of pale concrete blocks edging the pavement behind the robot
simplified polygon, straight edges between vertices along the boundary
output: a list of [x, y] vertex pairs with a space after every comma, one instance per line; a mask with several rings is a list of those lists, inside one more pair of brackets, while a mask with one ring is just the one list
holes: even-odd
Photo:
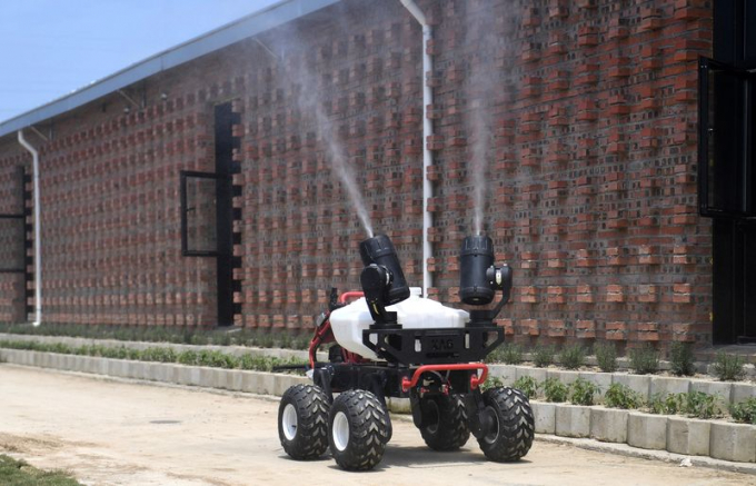
[[[77, 371], [113, 378], [138, 379], [169, 385], [281, 396], [296, 384], [310, 383], [304, 376], [240, 369], [185, 366], [167, 363], [131, 361], [54, 353], [0, 349], [0, 360], [14, 365]], [[391, 399], [389, 409], [407, 413], [409, 400]], [[605, 407], [531, 401], [536, 432], [569, 438], [593, 437], [625, 447], [657, 452], [710, 455], [737, 462], [730, 470], [756, 474], [756, 427], [717, 420], [695, 420], [677, 416], [649, 415]], [[591, 440], [594, 442], [594, 440]], [[620, 444], [616, 444], [620, 445]], [[680, 456], [686, 457], [686, 456]], [[714, 459], [712, 459], [714, 460]], [[726, 463], [732, 464], [732, 463]]]

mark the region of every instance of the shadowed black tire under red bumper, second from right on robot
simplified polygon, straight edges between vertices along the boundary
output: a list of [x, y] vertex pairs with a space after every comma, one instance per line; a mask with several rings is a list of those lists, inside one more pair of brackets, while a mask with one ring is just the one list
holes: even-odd
[[438, 426], [420, 427], [420, 435], [426, 445], [434, 450], [457, 450], [467, 444], [470, 438], [470, 428], [467, 425], [467, 408], [460, 395], [435, 395], [420, 399], [432, 400], [438, 406]]

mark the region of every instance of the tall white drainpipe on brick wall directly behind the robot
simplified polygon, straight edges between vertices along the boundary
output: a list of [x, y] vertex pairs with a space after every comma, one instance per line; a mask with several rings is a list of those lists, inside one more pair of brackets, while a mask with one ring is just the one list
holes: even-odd
[[422, 296], [428, 297], [428, 287], [434, 285], [432, 276], [428, 271], [428, 259], [434, 256], [432, 246], [428, 240], [428, 230], [434, 225], [432, 215], [428, 211], [428, 199], [434, 195], [432, 185], [428, 180], [428, 168], [434, 163], [432, 152], [428, 150], [428, 137], [434, 135], [434, 123], [428, 118], [428, 106], [434, 102], [434, 91], [426, 82], [426, 77], [432, 76], [434, 60], [426, 46], [432, 39], [434, 31], [414, 0], [401, 0], [401, 4], [422, 26]]

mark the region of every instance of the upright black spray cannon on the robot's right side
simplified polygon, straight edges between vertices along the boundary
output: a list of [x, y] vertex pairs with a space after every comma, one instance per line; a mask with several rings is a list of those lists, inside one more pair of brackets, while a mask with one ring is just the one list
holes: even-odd
[[501, 300], [494, 309], [470, 311], [470, 325], [491, 325], [511, 292], [511, 268], [494, 265], [494, 241], [483, 235], [468, 236], [462, 240], [459, 254], [459, 297], [471, 306], [485, 306], [494, 300], [497, 290]]

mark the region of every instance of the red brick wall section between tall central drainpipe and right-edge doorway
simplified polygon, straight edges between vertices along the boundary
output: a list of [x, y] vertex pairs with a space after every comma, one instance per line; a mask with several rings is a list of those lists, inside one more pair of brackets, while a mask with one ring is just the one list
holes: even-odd
[[[481, 133], [460, 120], [485, 106], [487, 232], [516, 269], [507, 331], [710, 340], [712, 236], [695, 179], [710, 2], [510, 6], [441, 2], [434, 16], [438, 295], [456, 300], [458, 241], [471, 232], [460, 195], [471, 192], [466, 161]], [[489, 29], [501, 37], [480, 42]], [[498, 71], [498, 90], [472, 79], [486, 69]]]

